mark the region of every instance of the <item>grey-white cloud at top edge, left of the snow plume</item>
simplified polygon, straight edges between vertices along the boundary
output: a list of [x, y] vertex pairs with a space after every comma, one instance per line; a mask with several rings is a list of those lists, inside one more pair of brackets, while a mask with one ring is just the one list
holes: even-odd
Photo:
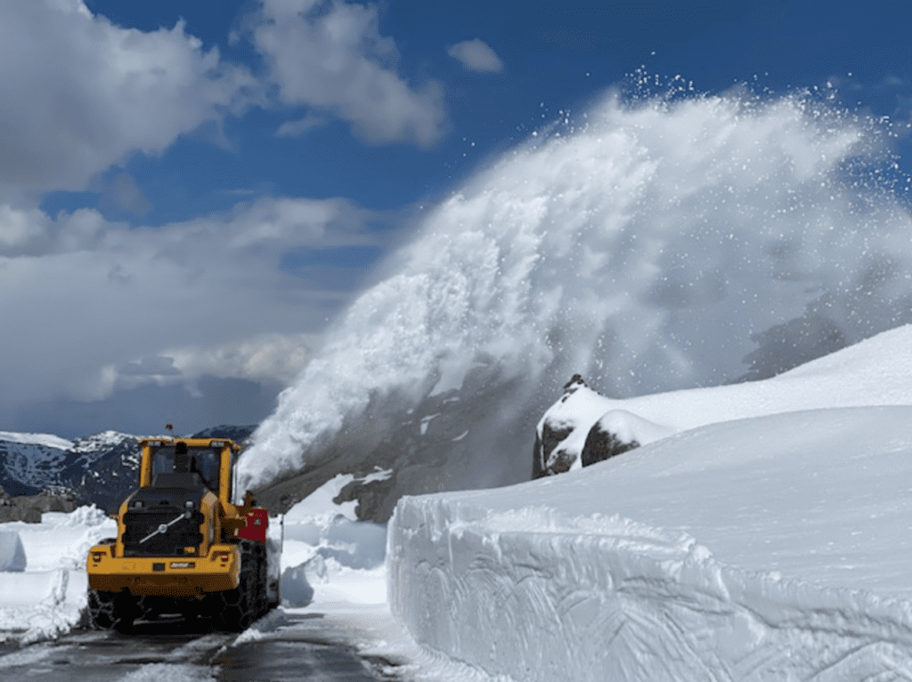
[[374, 5], [264, 0], [252, 36], [285, 104], [330, 112], [375, 144], [427, 148], [446, 130], [440, 85], [413, 88], [399, 77], [396, 44], [380, 36]]

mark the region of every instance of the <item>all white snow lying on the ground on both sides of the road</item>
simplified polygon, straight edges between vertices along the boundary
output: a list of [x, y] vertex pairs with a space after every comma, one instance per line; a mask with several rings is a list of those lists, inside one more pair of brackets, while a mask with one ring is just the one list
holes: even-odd
[[[389, 537], [332, 503], [339, 476], [285, 516], [283, 611], [238, 642], [319, 613], [415, 680], [912, 680], [910, 346], [907, 326], [754, 384], [578, 390], [552, 414], [588, 429], [614, 410], [670, 435], [544, 480], [404, 498]], [[82, 557], [112, 532], [89, 508], [4, 524], [5, 636], [77, 623]]]

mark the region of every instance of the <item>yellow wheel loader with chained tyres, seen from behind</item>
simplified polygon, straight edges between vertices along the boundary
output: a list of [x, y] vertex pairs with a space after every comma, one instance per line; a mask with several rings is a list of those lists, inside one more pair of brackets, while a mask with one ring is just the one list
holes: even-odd
[[243, 505], [231, 502], [240, 446], [161, 438], [140, 445], [140, 488], [115, 516], [118, 537], [88, 552], [90, 625], [124, 632], [139, 619], [181, 614], [245, 629], [279, 594], [266, 510], [250, 491]]

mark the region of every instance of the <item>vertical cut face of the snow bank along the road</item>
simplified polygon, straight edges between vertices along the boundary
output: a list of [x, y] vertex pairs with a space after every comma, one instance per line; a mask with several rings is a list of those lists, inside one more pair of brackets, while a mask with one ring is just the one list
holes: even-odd
[[524, 682], [910, 678], [907, 602], [724, 567], [619, 517], [559, 525], [403, 499], [394, 615], [431, 651]]

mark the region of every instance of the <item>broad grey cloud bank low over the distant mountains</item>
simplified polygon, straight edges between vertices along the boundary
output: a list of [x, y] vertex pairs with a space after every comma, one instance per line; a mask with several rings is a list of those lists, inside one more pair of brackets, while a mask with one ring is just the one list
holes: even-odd
[[383, 220], [342, 199], [261, 199], [155, 229], [0, 206], [0, 386], [25, 403], [202, 376], [285, 384], [355, 292], [284, 272], [284, 254], [384, 248], [370, 229]]

